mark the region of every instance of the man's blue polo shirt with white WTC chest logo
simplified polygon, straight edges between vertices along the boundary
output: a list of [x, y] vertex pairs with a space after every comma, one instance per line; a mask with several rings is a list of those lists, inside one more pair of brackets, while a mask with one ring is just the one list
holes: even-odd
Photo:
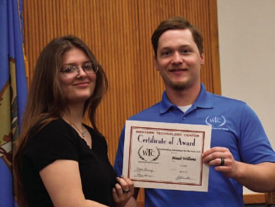
[[[236, 161], [275, 162], [275, 153], [256, 113], [242, 101], [206, 92], [203, 84], [196, 102], [185, 113], [168, 100], [164, 91], [159, 103], [129, 120], [211, 125], [211, 147], [227, 147]], [[114, 166], [119, 175], [123, 166], [124, 133], [125, 127], [120, 135]], [[244, 206], [242, 196], [241, 184], [210, 167], [208, 192], [147, 188], [145, 206], [239, 207]]]

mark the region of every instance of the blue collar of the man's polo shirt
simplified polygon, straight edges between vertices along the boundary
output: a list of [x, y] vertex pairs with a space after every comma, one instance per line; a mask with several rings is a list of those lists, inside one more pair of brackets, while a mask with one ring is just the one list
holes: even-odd
[[[166, 91], [162, 94], [162, 100], [160, 101], [160, 113], [166, 113], [172, 106], [176, 107], [175, 104], [172, 104], [167, 98]], [[205, 86], [201, 83], [200, 94], [192, 105], [192, 108], [213, 108], [213, 94], [208, 93], [205, 90]]]

